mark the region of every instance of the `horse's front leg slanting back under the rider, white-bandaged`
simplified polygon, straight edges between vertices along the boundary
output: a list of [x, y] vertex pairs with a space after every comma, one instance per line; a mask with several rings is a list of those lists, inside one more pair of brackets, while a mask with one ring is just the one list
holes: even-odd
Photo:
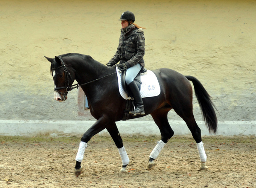
[[126, 168], [130, 162], [130, 159], [126, 153], [125, 147], [123, 146], [122, 138], [121, 138], [120, 133], [116, 127], [116, 123], [113, 122], [112, 124], [109, 124], [109, 126], [107, 127], [107, 130], [108, 130], [109, 134], [111, 135], [113, 141], [115, 142], [116, 147], [118, 148], [119, 154], [122, 159], [122, 168], [121, 168], [120, 172], [127, 172]]

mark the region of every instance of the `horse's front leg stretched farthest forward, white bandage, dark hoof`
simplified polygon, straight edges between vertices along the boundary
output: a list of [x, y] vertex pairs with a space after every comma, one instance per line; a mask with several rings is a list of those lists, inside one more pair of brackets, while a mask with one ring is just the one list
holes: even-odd
[[107, 125], [106, 122], [107, 122], [107, 120], [105, 120], [104, 118], [99, 119], [82, 136], [81, 142], [79, 144], [79, 149], [78, 149], [78, 152], [76, 155], [76, 166], [75, 166], [75, 175], [76, 176], [79, 176], [83, 172], [83, 168], [81, 167], [81, 162], [84, 158], [84, 151], [87, 147], [87, 143], [94, 135], [96, 135], [97, 133], [99, 133], [100, 131], [102, 131], [106, 128], [106, 125]]

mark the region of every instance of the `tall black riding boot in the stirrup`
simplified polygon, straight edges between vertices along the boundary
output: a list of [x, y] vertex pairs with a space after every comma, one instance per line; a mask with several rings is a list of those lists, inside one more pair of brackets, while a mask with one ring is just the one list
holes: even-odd
[[145, 115], [145, 111], [144, 111], [144, 106], [143, 106], [143, 101], [140, 95], [140, 90], [137, 86], [137, 84], [132, 81], [129, 85], [128, 85], [130, 91], [131, 91], [131, 95], [134, 98], [134, 106], [135, 106], [135, 112], [131, 111], [129, 112], [129, 114], [132, 114], [134, 116], [136, 115]]

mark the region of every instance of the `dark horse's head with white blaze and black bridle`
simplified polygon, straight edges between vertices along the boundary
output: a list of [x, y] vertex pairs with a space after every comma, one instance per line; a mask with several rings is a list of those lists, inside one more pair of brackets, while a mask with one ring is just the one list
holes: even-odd
[[67, 99], [67, 93], [71, 90], [71, 86], [74, 82], [75, 73], [64, 64], [61, 56], [47, 58], [47, 60], [51, 62], [51, 74], [54, 82], [54, 99], [60, 102], [65, 101]]

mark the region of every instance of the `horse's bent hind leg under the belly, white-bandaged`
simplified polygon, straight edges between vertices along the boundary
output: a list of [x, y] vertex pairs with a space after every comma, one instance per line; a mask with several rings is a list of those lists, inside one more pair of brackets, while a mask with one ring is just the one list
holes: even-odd
[[158, 109], [154, 113], [151, 113], [151, 116], [154, 119], [154, 122], [157, 124], [160, 133], [161, 133], [161, 140], [157, 142], [157, 145], [152, 150], [148, 160], [148, 170], [154, 168], [155, 163], [154, 160], [157, 158], [163, 147], [166, 145], [168, 140], [173, 136], [174, 132], [168, 122], [167, 114], [169, 109]]

